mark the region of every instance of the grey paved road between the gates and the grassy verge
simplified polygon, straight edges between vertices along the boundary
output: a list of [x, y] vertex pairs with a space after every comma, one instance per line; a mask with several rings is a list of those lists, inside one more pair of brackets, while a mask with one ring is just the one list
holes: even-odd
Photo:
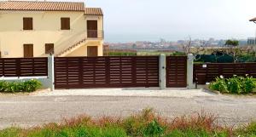
[[256, 98], [252, 97], [0, 96], [0, 128], [60, 122], [63, 117], [81, 114], [125, 117], [146, 107], [153, 107], [160, 115], [170, 118], [203, 110], [218, 115], [224, 123], [256, 119]]

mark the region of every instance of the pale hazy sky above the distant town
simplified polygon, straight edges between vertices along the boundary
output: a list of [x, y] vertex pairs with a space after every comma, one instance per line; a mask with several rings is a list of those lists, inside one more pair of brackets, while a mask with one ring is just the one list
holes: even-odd
[[[67, 0], [68, 1], [68, 0]], [[79, 0], [104, 12], [105, 42], [254, 37], [256, 0]]]

